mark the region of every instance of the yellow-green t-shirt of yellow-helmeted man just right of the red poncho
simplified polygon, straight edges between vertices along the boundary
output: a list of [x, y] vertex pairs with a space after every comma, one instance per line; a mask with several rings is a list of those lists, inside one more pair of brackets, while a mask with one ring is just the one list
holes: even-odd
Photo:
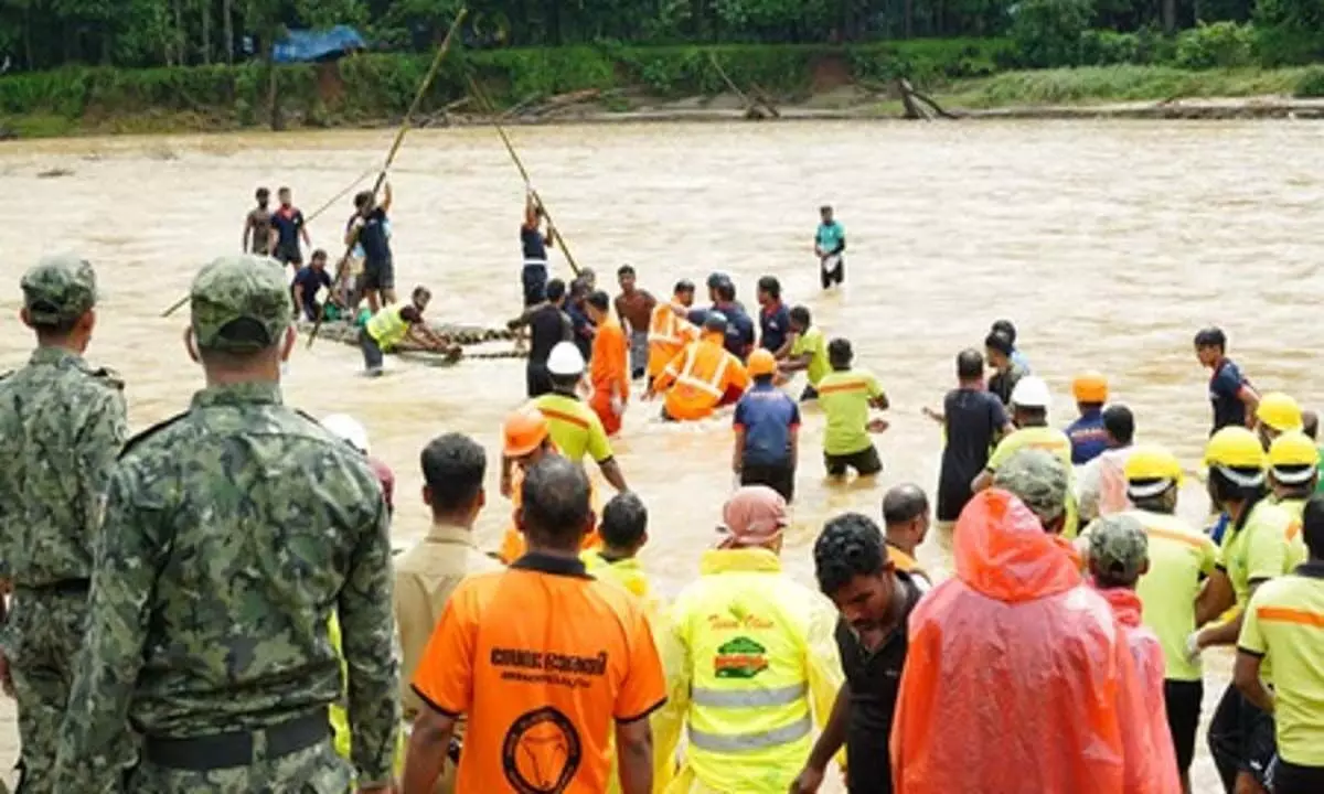
[[1131, 511], [1149, 539], [1149, 573], [1140, 577], [1136, 593], [1141, 619], [1162, 646], [1164, 678], [1198, 682], [1200, 662], [1186, 658], [1186, 638], [1196, 630], [1196, 597], [1202, 576], [1214, 572], [1218, 547], [1176, 516]]

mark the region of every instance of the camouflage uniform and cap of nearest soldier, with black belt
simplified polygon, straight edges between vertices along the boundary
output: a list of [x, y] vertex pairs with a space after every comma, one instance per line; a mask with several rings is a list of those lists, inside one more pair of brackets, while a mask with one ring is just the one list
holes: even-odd
[[[207, 266], [191, 299], [204, 355], [279, 344], [290, 323], [285, 273], [260, 257]], [[342, 692], [332, 610], [357, 779], [389, 782], [400, 705], [387, 525], [364, 457], [282, 405], [277, 382], [208, 386], [130, 441], [110, 483], [60, 790], [117, 790], [109, 749], [127, 713], [143, 734], [127, 791], [346, 791], [327, 717]]]

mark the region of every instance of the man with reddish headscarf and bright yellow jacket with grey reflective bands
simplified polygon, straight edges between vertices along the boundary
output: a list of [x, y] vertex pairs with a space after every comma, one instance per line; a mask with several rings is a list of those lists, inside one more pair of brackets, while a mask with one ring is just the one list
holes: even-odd
[[675, 675], [654, 723], [655, 753], [670, 757], [688, 725], [667, 794], [786, 791], [842, 682], [835, 610], [781, 570], [785, 499], [747, 486], [722, 520], [659, 639]]

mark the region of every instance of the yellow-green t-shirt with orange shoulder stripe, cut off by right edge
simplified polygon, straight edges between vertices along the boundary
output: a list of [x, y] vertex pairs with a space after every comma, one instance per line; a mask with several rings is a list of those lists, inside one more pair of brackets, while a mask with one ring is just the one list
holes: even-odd
[[1324, 766], [1324, 565], [1264, 582], [1246, 607], [1237, 647], [1274, 660], [1278, 754]]

